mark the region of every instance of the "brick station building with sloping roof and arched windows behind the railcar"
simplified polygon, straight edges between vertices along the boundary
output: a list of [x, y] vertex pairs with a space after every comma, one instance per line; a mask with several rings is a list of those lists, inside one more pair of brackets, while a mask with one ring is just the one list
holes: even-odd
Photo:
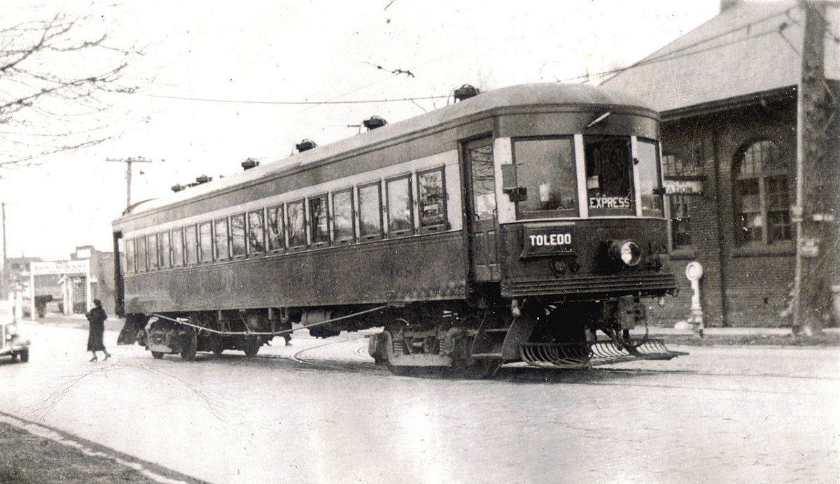
[[[695, 260], [705, 268], [706, 325], [791, 325], [791, 294], [817, 284], [808, 274], [825, 276], [817, 290], [830, 298], [840, 218], [838, 11], [837, 2], [724, 0], [717, 17], [602, 83], [662, 113], [666, 185], [701, 190], [668, 197], [671, 265], [683, 285], [654, 320], [687, 318], [691, 291], [681, 275]], [[816, 104], [801, 87], [811, 85]], [[812, 237], [814, 224], [833, 235]], [[815, 265], [825, 256], [833, 262]]]

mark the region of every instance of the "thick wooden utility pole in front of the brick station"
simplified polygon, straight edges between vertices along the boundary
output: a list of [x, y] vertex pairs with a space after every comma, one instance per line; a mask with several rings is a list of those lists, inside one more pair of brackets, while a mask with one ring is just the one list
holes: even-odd
[[805, 12], [802, 72], [797, 101], [796, 149], [796, 267], [793, 333], [822, 330], [832, 311], [832, 284], [840, 277], [838, 231], [837, 148], [827, 133], [836, 123], [837, 97], [825, 77], [826, 5], [801, 3]]

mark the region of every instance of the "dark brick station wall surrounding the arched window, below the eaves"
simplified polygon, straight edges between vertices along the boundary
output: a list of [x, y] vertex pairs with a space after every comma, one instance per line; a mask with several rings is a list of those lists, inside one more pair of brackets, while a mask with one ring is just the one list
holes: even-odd
[[777, 99], [730, 107], [663, 123], [664, 154], [695, 160], [702, 167], [703, 194], [690, 197], [691, 246], [672, 253], [669, 268], [680, 295], [664, 308], [652, 308], [656, 325], [672, 325], [690, 315], [691, 290], [685, 265], [703, 265], [702, 305], [707, 326], [790, 325], [780, 316], [794, 279], [793, 241], [739, 244], [733, 198], [733, 163], [738, 152], [759, 139], [772, 141], [788, 162], [788, 200], [795, 203], [796, 104]]

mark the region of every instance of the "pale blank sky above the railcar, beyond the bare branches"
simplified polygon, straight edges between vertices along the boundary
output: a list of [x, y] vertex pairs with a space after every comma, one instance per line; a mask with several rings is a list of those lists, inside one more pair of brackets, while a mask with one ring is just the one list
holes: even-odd
[[[349, 138], [374, 115], [393, 123], [443, 107], [465, 83], [487, 91], [581, 81], [632, 64], [720, 8], [719, 0], [3, 3], [0, 26], [16, 16], [90, 14], [92, 34], [144, 53], [129, 69], [143, 87], [103, 113], [120, 128], [113, 139], [0, 167], [6, 255], [44, 260], [83, 245], [112, 250], [126, 165], [108, 159], [150, 159], [134, 164], [131, 198], [158, 198], [202, 174], [241, 171], [248, 158], [284, 159], [304, 138]], [[407, 98], [416, 100], [386, 101]], [[302, 101], [318, 104], [284, 104]]]

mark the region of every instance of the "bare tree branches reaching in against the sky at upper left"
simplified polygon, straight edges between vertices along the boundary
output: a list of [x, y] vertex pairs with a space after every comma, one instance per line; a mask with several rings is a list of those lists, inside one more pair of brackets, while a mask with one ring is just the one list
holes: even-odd
[[102, 18], [60, 12], [0, 24], [0, 167], [116, 135], [107, 112], [137, 89], [126, 79], [141, 53], [110, 44]]

